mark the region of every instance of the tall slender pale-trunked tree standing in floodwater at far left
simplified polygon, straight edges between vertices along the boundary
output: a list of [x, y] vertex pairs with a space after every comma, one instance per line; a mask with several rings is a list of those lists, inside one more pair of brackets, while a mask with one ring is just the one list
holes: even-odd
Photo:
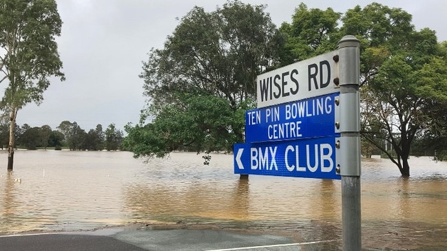
[[54, 0], [0, 0], [0, 83], [8, 83], [0, 105], [10, 111], [8, 170], [13, 167], [17, 111], [42, 102], [50, 76], [64, 79], [55, 41], [61, 25]]

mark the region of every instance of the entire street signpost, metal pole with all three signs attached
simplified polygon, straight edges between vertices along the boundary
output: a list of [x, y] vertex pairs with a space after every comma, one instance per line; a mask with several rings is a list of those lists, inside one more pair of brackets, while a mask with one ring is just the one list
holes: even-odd
[[344, 36], [338, 50], [261, 74], [256, 85], [234, 173], [341, 178], [343, 250], [362, 250], [360, 41]]

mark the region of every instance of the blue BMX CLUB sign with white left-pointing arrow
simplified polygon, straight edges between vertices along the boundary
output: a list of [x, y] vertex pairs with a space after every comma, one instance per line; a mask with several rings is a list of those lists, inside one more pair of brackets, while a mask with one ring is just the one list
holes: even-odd
[[233, 145], [234, 173], [341, 179], [335, 173], [335, 137]]

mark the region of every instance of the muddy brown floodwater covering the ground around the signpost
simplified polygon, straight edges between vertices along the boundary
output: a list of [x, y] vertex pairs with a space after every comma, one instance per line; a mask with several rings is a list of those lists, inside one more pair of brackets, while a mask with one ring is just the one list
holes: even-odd
[[[0, 170], [0, 234], [90, 230], [132, 222], [207, 224], [291, 234], [340, 250], [340, 181], [233, 174], [232, 155], [135, 160], [128, 152], [17, 151]], [[365, 250], [447, 250], [447, 163], [362, 162]], [[175, 224], [174, 224], [175, 225]], [[322, 244], [323, 245], [323, 244]]]

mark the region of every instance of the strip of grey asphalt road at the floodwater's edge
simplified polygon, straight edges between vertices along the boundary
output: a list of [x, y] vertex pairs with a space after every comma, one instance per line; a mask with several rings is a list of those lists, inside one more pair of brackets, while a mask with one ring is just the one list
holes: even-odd
[[[339, 241], [339, 240], [336, 240]], [[336, 242], [335, 241], [335, 242]], [[112, 229], [92, 232], [22, 234], [0, 237], [1, 251], [277, 251], [320, 250], [317, 241], [294, 243], [289, 237], [225, 230]], [[305, 247], [305, 248], [304, 248]]]

